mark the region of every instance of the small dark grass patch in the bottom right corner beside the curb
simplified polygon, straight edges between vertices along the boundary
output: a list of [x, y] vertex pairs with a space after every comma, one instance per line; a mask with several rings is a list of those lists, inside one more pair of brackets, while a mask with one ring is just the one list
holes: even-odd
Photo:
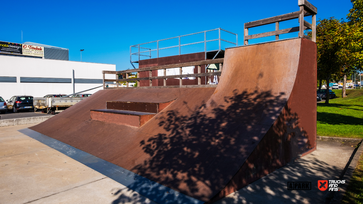
[[353, 176], [348, 184], [347, 191], [342, 199], [342, 204], [363, 203], [363, 155], [357, 163]]

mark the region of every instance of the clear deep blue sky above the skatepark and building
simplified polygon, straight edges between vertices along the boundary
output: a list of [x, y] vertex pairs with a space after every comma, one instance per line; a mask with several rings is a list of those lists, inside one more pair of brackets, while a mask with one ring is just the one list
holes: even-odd
[[[310, 0], [310, 3], [318, 8], [317, 19], [332, 16], [346, 19], [352, 7], [350, 0]], [[244, 23], [299, 10], [297, 0], [274, 3], [270, 0], [4, 1], [2, 7], [1, 25], [5, 29], [0, 32], [0, 41], [21, 43], [23, 30], [23, 42], [68, 48], [69, 60], [72, 61], [80, 61], [79, 50], [84, 49], [82, 61], [116, 64], [116, 70], [132, 69], [130, 45], [215, 28], [237, 33], [238, 45], [242, 45]], [[298, 26], [297, 19], [281, 23], [280, 29], [295, 26]], [[249, 34], [273, 29], [274, 25], [266, 25], [250, 29]], [[217, 33], [211, 33], [207, 38], [212, 39], [214, 36], [217, 37]], [[297, 33], [285, 37], [295, 36]], [[196, 36], [183, 39], [182, 44], [199, 41], [198, 37], [204, 40], [204, 36]], [[227, 34], [222, 34], [222, 37], [232, 39]], [[163, 46], [172, 43], [175, 42], [167, 41]], [[182, 54], [198, 49], [202, 48], [184, 48]], [[171, 55], [173, 52], [176, 50], [162, 54]]]

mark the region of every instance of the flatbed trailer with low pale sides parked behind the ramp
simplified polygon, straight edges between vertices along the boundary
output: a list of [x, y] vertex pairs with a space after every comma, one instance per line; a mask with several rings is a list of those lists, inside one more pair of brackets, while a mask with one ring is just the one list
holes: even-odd
[[64, 111], [68, 107], [73, 106], [79, 101], [87, 97], [40, 97], [33, 98], [33, 105], [35, 107], [34, 112], [37, 109], [44, 110], [44, 113], [56, 114]]

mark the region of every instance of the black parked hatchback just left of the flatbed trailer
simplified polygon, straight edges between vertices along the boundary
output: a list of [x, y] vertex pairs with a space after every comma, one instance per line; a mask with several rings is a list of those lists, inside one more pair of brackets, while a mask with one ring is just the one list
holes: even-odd
[[31, 95], [15, 95], [7, 100], [8, 110], [13, 113], [21, 110], [34, 110], [33, 97]]

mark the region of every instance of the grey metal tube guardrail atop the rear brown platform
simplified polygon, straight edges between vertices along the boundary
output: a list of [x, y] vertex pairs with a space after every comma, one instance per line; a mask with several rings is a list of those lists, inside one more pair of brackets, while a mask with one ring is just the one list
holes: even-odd
[[[207, 40], [207, 32], [214, 31], [214, 30], [218, 30], [218, 38], [217, 39], [213, 39], [213, 40]], [[221, 38], [221, 31], [225, 31], [225, 32], [228, 32], [228, 33], [231, 33], [231, 34], [235, 35], [236, 36], [236, 42], [231, 42], [231, 41], [228, 41], [228, 40], [225, 40], [225, 39]], [[200, 33], [204, 33], [204, 41], [192, 42], [192, 43], [188, 43], [188, 44], [181, 44], [181, 39], [180, 39], [181, 37], [191, 36], [191, 35], [200, 34]], [[171, 39], [175, 39], [175, 38], [179, 38], [179, 45], [169, 46], [169, 47], [166, 47], [166, 48], [159, 48], [159, 42], [160, 41], [171, 40]], [[219, 42], [219, 49], [217, 49], [217, 50], [207, 50], [207, 42], [212, 42], [212, 41], [218, 41]], [[228, 43], [231, 43], [233, 45], [238, 46], [238, 34], [232, 33], [230, 31], [225, 30], [225, 29], [222, 29], [222, 28], [216, 28], [216, 29], [212, 29], [212, 30], [204, 30], [202, 32], [197, 32], [197, 33], [192, 33], [192, 34], [186, 34], [186, 35], [181, 35], [181, 36], [177, 36], [177, 37], [166, 38], [166, 39], [162, 39], [162, 40], [155, 40], [155, 41], [145, 42], [145, 43], [141, 43], [141, 44], [137, 44], [137, 45], [131, 45], [130, 46], [130, 63], [135, 68], [135, 66], [132, 63], [133, 62], [139, 62], [140, 61], [140, 56], [150, 57], [150, 59], [151, 59], [151, 52], [152, 51], [157, 51], [157, 58], [159, 58], [159, 50], [169, 49], [169, 48], [177, 48], [177, 47], [179, 47], [179, 55], [180, 55], [181, 54], [180, 53], [180, 48], [182, 46], [194, 45], [194, 44], [199, 44], [199, 43], [204, 43], [205, 59], [207, 59], [207, 52], [215, 52], [215, 51], [217, 51], [217, 54], [213, 57], [213, 59], [214, 59], [218, 55], [218, 53], [222, 50], [221, 49], [221, 41], [228, 42]], [[155, 43], [155, 42], [156, 42], [156, 49], [144, 48], [144, 47], [141, 46], [141, 45]], [[132, 48], [138, 48], [138, 52], [132, 53], [132, 50], [131, 50]], [[142, 54], [142, 53], [148, 53], [149, 55], [145, 55], [145, 54]], [[138, 56], [138, 60], [132, 61], [132, 55]]]

